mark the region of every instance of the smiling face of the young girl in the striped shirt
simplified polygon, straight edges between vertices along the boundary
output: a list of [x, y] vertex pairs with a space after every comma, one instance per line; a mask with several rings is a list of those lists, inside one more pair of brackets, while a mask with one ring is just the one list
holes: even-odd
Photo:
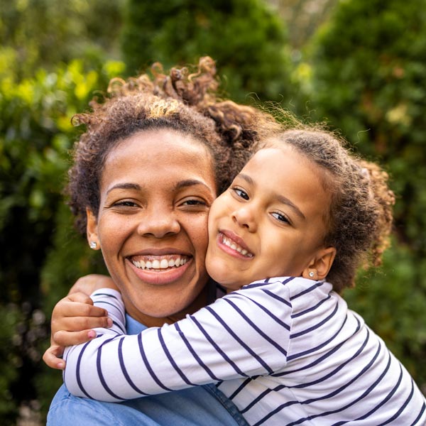
[[[322, 271], [330, 198], [310, 160], [288, 147], [258, 151], [209, 214], [206, 265], [236, 290], [254, 280]], [[331, 266], [331, 264], [330, 264]], [[328, 269], [327, 269], [328, 272]]]

